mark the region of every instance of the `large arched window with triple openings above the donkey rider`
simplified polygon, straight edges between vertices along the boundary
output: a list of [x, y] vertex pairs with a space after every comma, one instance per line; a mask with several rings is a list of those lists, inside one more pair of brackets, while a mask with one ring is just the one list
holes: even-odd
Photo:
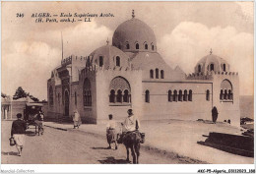
[[126, 79], [123, 77], [115, 77], [109, 86], [109, 102], [115, 103], [130, 103], [131, 102], [131, 87]]

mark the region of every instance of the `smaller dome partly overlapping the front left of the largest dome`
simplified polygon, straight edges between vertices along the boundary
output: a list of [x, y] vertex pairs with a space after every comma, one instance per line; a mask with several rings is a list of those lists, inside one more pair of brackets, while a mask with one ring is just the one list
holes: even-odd
[[120, 49], [105, 45], [97, 48], [90, 54], [93, 57], [93, 66], [113, 68], [113, 67], [128, 67], [129, 57]]

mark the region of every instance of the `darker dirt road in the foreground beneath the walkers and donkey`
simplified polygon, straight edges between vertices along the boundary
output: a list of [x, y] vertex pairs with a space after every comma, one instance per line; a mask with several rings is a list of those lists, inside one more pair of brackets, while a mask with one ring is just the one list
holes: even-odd
[[[103, 136], [81, 130], [61, 131], [45, 127], [43, 136], [34, 136], [28, 130], [22, 156], [17, 156], [15, 146], [9, 145], [10, 121], [2, 122], [2, 164], [112, 164], [127, 163], [126, 150], [105, 149]], [[131, 159], [131, 157], [130, 157]], [[142, 164], [204, 163], [158, 148], [144, 146], [141, 150]]]

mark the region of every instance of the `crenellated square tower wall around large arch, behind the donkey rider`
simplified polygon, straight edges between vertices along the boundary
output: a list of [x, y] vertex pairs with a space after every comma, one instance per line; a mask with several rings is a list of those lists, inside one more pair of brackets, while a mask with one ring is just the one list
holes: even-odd
[[[122, 77], [128, 81], [131, 88], [131, 103], [110, 103], [110, 82]], [[105, 121], [108, 114], [115, 120], [123, 121], [127, 117], [127, 110], [132, 108], [138, 117], [143, 115], [141, 107], [142, 72], [140, 70], [99, 70], [96, 73], [96, 116], [97, 121]]]

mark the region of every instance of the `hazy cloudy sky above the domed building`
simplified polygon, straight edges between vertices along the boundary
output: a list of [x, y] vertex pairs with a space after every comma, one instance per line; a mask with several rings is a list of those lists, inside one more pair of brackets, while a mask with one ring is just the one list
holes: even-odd
[[[157, 37], [158, 52], [170, 65], [193, 73], [196, 63], [213, 54], [239, 73], [240, 94], [252, 95], [254, 82], [253, 2], [2, 2], [2, 92], [13, 95], [23, 87], [47, 98], [47, 80], [62, 58], [88, 56], [111, 41], [114, 30], [135, 18]], [[23, 13], [23, 18], [17, 18]], [[34, 22], [33, 13], [93, 13], [114, 17], [90, 23]]]

